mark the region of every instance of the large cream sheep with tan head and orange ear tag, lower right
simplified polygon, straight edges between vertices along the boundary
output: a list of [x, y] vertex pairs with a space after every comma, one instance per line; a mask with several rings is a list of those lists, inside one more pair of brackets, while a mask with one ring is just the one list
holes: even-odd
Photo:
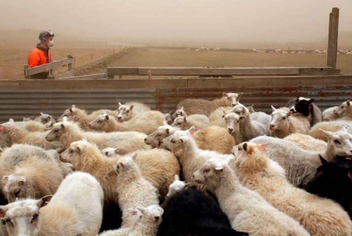
[[299, 221], [311, 235], [325, 236], [327, 232], [331, 235], [352, 234], [349, 215], [338, 203], [293, 187], [286, 180], [285, 170], [264, 151], [261, 144], [237, 146], [232, 166], [243, 186]]

